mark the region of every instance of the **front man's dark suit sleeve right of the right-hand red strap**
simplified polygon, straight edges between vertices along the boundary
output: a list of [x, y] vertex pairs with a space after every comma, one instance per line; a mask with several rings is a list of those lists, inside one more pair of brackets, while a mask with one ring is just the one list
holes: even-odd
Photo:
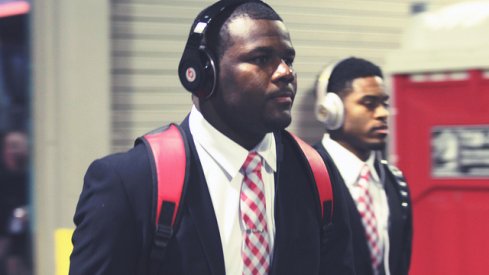
[[320, 274], [354, 275], [352, 232], [348, 205], [346, 202], [346, 188], [339, 183], [340, 175], [336, 170], [329, 169], [333, 187], [333, 219], [327, 225], [323, 234], [321, 249], [322, 261]]

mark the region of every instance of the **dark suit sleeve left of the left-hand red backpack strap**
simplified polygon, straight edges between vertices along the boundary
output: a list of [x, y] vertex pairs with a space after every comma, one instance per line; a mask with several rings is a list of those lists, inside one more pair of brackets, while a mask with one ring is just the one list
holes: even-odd
[[137, 274], [141, 255], [127, 192], [107, 159], [90, 165], [76, 208], [70, 275]]

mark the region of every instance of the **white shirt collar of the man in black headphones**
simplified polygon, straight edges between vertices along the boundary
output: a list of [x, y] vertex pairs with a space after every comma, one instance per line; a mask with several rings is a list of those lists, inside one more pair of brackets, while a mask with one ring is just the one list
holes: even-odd
[[[248, 156], [248, 150], [214, 128], [195, 106], [190, 111], [189, 127], [194, 141], [221, 166], [229, 178], [239, 173]], [[252, 151], [256, 151], [263, 158], [265, 166], [273, 172], [277, 170], [277, 152], [273, 133], [266, 134]]]

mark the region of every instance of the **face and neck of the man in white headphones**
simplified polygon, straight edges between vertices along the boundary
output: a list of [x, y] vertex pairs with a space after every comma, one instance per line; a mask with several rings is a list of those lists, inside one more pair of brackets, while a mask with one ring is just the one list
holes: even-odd
[[384, 81], [378, 76], [356, 78], [351, 89], [340, 94], [345, 107], [343, 126], [331, 132], [331, 138], [362, 161], [372, 150], [385, 147], [388, 99]]

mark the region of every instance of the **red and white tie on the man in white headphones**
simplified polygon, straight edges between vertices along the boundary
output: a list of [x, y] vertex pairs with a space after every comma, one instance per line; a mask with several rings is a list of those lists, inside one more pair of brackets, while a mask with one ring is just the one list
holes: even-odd
[[358, 193], [355, 198], [358, 212], [362, 217], [363, 227], [365, 228], [365, 236], [367, 237], [368, 247], [370, 249], [370, 259], [374, 274], [378, 274], [380, 264], [382, 263], [383, 249], [380, 247], [380, 236], [377, 230], [377, 218], [374, 212], [372, 196], [368, 191], [370, 182], [370, 170], [365, 165], [357, 182]]

